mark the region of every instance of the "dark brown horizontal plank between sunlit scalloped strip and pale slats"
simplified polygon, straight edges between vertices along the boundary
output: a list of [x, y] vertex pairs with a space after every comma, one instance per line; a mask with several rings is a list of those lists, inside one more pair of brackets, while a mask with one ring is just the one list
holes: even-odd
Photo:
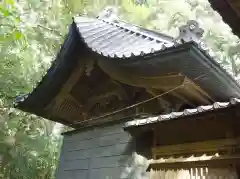
[[153, 170], [170, 170], [170, 169], [190, 169], [190, 168], [224, 168], [240, 163], [240, 156], [218, 157], [209, 160], [199, 161], [179, 161], [165, 163], [151, 163], [147, 171]]

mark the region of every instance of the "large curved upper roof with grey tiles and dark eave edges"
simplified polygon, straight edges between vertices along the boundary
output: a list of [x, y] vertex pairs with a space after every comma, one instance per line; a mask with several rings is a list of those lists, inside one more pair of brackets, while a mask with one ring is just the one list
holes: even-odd
[[[98, 54], [106, 63], [113, 62], [114, 65], [118, 61], [118, 64], [128, 64], [135, 68], [134, 60], [138, 60], [141, 62], [138, 64], [139, 71], [146, 71], [148, 65], [150, 70], [146, 72], [147, 75], [155, 70], [157, 74], [181, 72], [190, 79], [201, 76], [196, 83], [212, 94], [214, 100], [225, 101], [239, 97], [239, 85], [203, 47], [195, 41], [181, 39], [178, 42], [167, 35], [123, 21], [115, 23], [107, 19], [76, 17], [52, 66], [29, 95], [16, 99], [15, 107], [72, 125], [71, 119], [51, 116], [46, 106], [59, 94], [76, 64], [86, 56]], [[154, 68], [152, 64], [159, 65]]]

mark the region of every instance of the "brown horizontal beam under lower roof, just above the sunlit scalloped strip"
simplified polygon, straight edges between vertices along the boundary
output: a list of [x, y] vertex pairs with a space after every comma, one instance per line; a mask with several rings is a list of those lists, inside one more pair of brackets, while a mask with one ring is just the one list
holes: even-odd
[[229, 151], [239, 147], [239, 139], [222, 139], [204, 142], [185, 143], [152, 148], [153, 155], [167, 156], [204, 152]]

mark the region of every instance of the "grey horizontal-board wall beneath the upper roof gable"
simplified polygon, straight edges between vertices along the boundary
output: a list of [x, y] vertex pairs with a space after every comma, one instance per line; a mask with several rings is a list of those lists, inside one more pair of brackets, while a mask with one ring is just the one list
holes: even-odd
[[139, 164], [135, 142], [122, 125], [66, 134], [56, 179], [148, 178], [148, 164]]

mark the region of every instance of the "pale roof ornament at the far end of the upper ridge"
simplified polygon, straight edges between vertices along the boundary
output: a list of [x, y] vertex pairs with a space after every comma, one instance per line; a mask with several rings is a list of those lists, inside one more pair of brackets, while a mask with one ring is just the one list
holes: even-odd
[[107, 6], [97, 16], [99, 19], [107, 20], [110, 22], [118, 22], [118, 8], [113, 6]]

